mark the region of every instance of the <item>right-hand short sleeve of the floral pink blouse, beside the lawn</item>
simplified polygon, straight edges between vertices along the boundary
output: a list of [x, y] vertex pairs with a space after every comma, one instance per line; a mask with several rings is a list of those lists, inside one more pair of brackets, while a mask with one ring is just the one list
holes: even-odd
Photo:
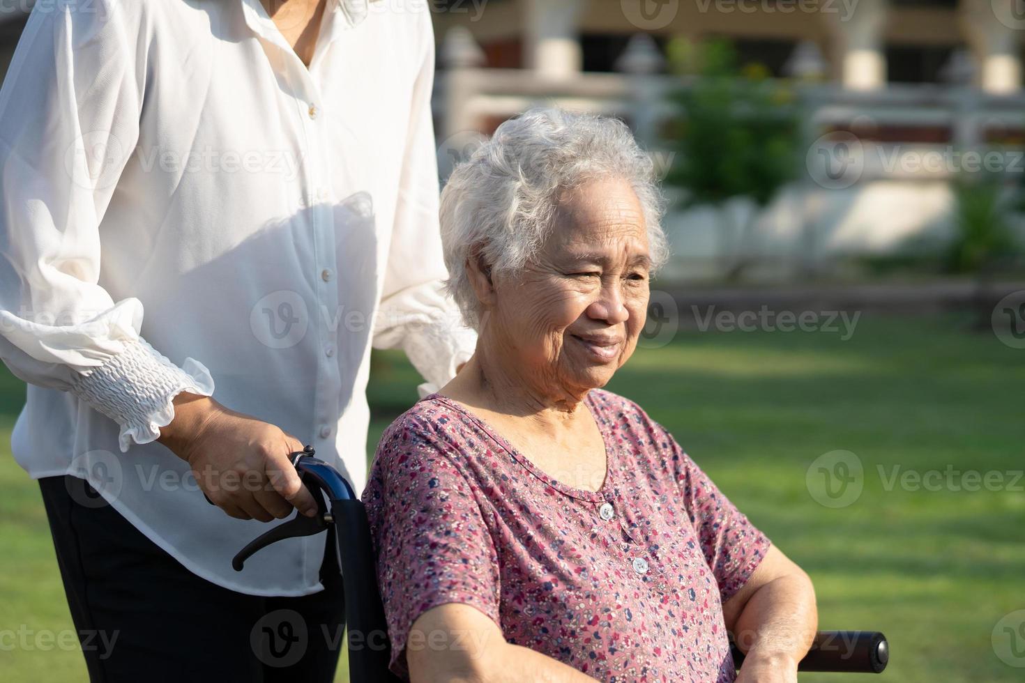
[[655, 446], [675, 478], [676, 489], [725, 603], [751, 578], [771, 542], [723, 495], [664, 427], [649, 421]]

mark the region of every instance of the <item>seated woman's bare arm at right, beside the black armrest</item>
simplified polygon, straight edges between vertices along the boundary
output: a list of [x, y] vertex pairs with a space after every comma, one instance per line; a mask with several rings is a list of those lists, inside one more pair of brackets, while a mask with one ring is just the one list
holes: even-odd
[[745, 653], [737, 683], [795, 683], [818, 628], [812, 580], [775, 546], [723, 604], [726, 628]]

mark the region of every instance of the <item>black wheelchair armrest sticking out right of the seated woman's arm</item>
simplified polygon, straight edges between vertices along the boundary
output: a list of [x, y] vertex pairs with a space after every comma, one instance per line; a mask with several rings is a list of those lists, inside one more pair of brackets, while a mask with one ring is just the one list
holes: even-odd
[[[744, 654], [731, 647], [733, 663], [740, 667]], [[889, 661], [890, 643], [877, 631], [819, 631], [797, 671], [881, 674]]]

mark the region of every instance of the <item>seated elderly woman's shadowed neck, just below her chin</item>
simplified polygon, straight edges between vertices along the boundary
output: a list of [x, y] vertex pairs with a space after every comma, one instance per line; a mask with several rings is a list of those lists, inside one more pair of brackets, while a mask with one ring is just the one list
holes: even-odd
[[577, 415], [587, 389], [570, 389], [529, 376], [525, 369], [504, 362], [500, 352], [479, 344], [474, 357], [442, 393], [503, 415], [559, 421]]

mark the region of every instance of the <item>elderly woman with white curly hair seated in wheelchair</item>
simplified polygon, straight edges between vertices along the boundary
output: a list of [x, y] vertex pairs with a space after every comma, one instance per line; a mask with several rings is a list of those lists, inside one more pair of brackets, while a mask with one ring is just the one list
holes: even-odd
[[618, 121], [506, 121], [442, 195], [476, 354], [383, 435], [363, 500], [412, 681], [795, 681], [808, 577], [672, 436], [603, 387], [664, 260]]

